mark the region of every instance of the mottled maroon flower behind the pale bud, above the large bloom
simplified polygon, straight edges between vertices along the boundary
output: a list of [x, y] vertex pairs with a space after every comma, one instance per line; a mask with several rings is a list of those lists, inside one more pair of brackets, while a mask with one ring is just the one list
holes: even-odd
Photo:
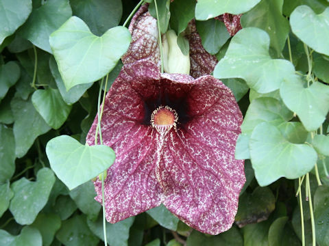
[[[143, 5], [134, 14], [129, 31], [132, 33], [132, 42], [127, 53], [122, 57], [123, 64], [140, 60], [152, 61], [160, 69], [158, 27], [156, 18], [153, 18], [148, 12], [148, 5]], [[215, 55], [210, 55], [202, 46], [202, 40], [195, 27], [195, 20], [189, 23], [186, 38], [190, 44], [191, 76], [197, 78], [210, 74], [217, 64], [217, 58]]]

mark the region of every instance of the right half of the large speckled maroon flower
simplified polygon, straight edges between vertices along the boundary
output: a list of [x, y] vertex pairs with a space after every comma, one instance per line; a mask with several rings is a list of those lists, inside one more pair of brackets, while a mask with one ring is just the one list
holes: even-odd
[[231, 228], [245, 182], [243, 161], [234, 159], [243, 118], [232, 92], [211, 76], [194, 81], [187, 104], [193, 119], [164, 138], [156, 176], [164, 206], [188, 226], [219, 234]]

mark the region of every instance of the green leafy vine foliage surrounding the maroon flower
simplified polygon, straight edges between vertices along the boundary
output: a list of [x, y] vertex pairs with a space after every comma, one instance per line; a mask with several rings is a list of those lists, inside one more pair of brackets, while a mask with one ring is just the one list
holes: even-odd
[[[154, 3], [147, 2], [154, 12]], [[93, 183], [85, 182], [88, 175], [77, 180], [69, 173], [64, 180], [74, 188], [70, 191], [49, 164], [63, 165], [64, 159], [47, 150], [48, 159], [46, 145], [69, 135], [73, 138], [57, 138], [47, 149], [82, 148], [107, 163], [114, 158], [109, 150], [91, 150], [84, 143], [97, 113], [99, 89], [107, 91], [119, 74], [122, 64], [117, 61], [130, 42], [127, 30], [117, 26], [137, 3], [0, 1], [0, 245], [103, 245]], [[219, 59], [213, 75], [231, 88], [245, 118], [236, 159], [246, 159], [247, 182], [236, 223], [227, 232], [202, 234], [159, 206], [106, 223], [108, 244], [302, 245], [305, 238], [306, 245], [314, 239], [317, 245], [329, 245], [329, 2], [175, 0], [170, 8], [169, 0], [158, 3], [162, 32], [174, 29], [184, 53], [188, 45], [180, 36], [195, 16], [204, 48]], [[225, 12], [243, 13], [243, 29], [233, 38], [213, 18]], [[64, 50], [80, 42], [70, 32], [74, 21], [96, 40], [89, 53], [82, 44]], [[60, 36], [65, 22], [68, 40]], [[99, 49], [97, 42], [106, 42], [108, 49]], [[103, 57], [95, 72], [97, 54]], [[81, 67], [72, 66], [77, 62]], [[104, 87], [106, 74], [109, 85]], [[88, 173], [88, 163], [83, 164]], [[95, 174], [106, 166], [98, 168]], [[296, 179], [301, 176], [304, 182]], [[301, 197], [295, 197], [297, 191]]]

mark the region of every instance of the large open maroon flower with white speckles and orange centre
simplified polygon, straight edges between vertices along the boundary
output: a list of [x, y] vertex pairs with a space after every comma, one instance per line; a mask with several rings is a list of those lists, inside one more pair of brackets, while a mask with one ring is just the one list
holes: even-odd
[[[234, 159], [243, 121], [232, 92], [210, 75], [160, 74], [148, 61], [123, 66], [106, 96], [101, 133], [117, 155], [105, 180], [106, 219], [161, 203], [201, 232], [234, 222], [245, 182]], [[97, 117], [87, 143], [95, 142]], [[95, 181], [98, 202], [101, 182]]]

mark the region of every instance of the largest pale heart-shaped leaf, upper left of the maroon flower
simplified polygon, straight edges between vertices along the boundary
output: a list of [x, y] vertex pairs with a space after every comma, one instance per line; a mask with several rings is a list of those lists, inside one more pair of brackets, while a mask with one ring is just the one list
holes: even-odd
[[69, 18], [50, 36], [66, 90], [104, 77], [127, 51], [130, 40], [130, 32], [125, 27], [114, 27], [98, 37], [80, 18]]

